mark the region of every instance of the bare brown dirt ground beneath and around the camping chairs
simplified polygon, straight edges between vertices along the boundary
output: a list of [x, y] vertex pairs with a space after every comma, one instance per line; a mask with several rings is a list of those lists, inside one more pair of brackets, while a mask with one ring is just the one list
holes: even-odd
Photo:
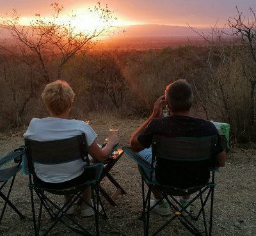
[[[122, 117], [109, 117], [107, 115], [90, 115], [84, 121], [89, 121], [92, 128], [98, 133], [99, 143], [108, 136], [109, 128], [120, 129], [120, 146], [127, 145], [132, 131], [140, 126], [142, 119], [127, 119]], [[22, 133], [9, 131], [0, 134], [0, 154], [12, 151], [23, 144]], [[256, 151], [255, 149], [242, 149], [232, 147], [227, 156], [227, 164], [216, 174], [216, 187], [214, 195], [213, 235], [256, 235]], [[108, 220], [100, 219], [101, 235], [143, 235], [143, 224], [140, 221], [141, 211], [141, 182], [136, 163], [125, 154], [111, 170], [111, 174], [127, 192], [119, 195], [117, 207], [112, 207], [102, 199], [108, 214]], [[0, 226], [0, 235], [33, 235], [33, 221], [28, 189], [28, 176], [18, 173], [12, 195], [10, 198], [26, 216], [22, 220], [7, 207]], [[102, 187], [111, 194], [115, 188], [108, 181], [102, 182]], [[3, 191], [5, 191], [5, 187]], [[61, 204], [61, 199], [60, 199]], [[0, 200], [1, 207], [3, 201]], [[0, 207], [0, 209], [1, 209]], [[196, 209], [196, 203], [192, 206]], [[92, 233], [94, 232], [93, 217], [82, 218], [79, 206], [76, 205], [77, 218]], [[152, 214], [151, 223], [159, 225], [166, 217]], [[44, 216], [44, 226], [49, 218]], [[196, 225], [200, 223], [196, 223]], [[152, 224], [153, 225], [153, 224]], [[44, 226], [42, 228], [44, 229]], [[154, 228], [154, 226], [153, 226]], [[152, 230], [152, 228], [150, 229]], [[150, 231], [151, 232], [151, 231]], [[50, 235], [75, 235], [68, 228], [58, 224]], [[166, 227], [159, 235], [191, 235], [186, 232], [179, 221]]]

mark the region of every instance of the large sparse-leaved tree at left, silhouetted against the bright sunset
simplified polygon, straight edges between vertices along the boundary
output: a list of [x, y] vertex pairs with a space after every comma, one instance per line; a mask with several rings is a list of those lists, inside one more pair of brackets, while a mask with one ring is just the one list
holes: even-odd
[[6, 100], [15, 104], [13, 109], [16, 110], [15, 124], [18, 127], [24, 124], [25, 111], [31, 108], [31, 101], [38, 98], [38, 90], [53, 79], [63, 77], [63, 70], [70, 59], [86, 52], [100, 36], [111, 34], [115, 29], [113, 22], [116, 18], [108, 4], [102, 6], [97, 3], [89, 9], [89, 14], [97, 15], [102, 24], [92, 31], [83, 32], [72, 25], [76, 15], [69, 15], [63, 22], [63, 6], [53, 3], [51, 7], [51, 18], [36, 13], [29, 26], [20, 26], [17, 10], [13, 10], [11, 16], [0, 18], [0, 31], [8, 31], [11, 35], [10, 40], [0, 44], [0, 63], [3, 65], [0, 82], [11, 88], [12, 96]]

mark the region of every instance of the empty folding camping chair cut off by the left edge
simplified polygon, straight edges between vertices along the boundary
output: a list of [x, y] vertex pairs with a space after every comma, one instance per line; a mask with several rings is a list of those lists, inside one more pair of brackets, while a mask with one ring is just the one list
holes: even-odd
[[[21, 169], [20, 164], [22, 163], [22, 155], [24, 154], [24, 152], [24, 148], [15, 149], [0, 159], [0, 198], [2, 198], [4, 201], [3, 209], [0, 216], [0, 225], [7, 205], [9, 205], [19, 215], [20, 219], [25, 219], [25, 216], [22, 215], [22, 213], [17, 209], [17, 207], [15, 207], [15, 205], [13, 205], [12, 202], [10, 202], [9, 199], [16, 174]], [[10, 186], [8, 189], [8, 193], [4, 195], [3, 188], [8, 181], [10, 182]]]

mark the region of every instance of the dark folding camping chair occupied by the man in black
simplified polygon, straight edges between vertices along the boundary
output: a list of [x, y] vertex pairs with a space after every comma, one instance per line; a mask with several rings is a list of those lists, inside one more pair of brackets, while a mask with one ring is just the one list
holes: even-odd
[[[176, 218], [179, 219], [180, 223], [182, 223], [189, 232], [193, 233], [193, 235], [202, 235], [202, 232], [196, 228], [193, 222], [197, 221], [200, 216], [202, 216], [204, 221], [205, 235], [211, 235], [214, 187], [216, 186], [214, 182], [214, 173], [218, 171], [218, 169], [210, 169], [210, 167], [212, 165], [214, 166], [216, 163], [213, 154], [216, 153], [214, 149], [216, 148], [217, 143], [217, 135], [198, 138], [173, 138], [156, 135], [152, 142], [151, 164], [142, 159], [138, 153], [129, 149], [129, 147], [122, 148], [125, 154], [138, 163], [141, 173], [143, 198], [141, 218], [143, 219], [144, 235], [148, 235], [150, 210], [156, 207], [156, 205], [163, 199], [166, 199], [173, 214], [171, 214], [170, 219], [159, 227], [156, 232], [152, 233], [152, 235], [159, 233]], [[209, 179], [211, 180], [209, 182], [202, 181], [202, 183], [199, 181], [198, 184], [196, 184], [197, 186], [195, 186], [192, 184], [193, 181], [191, 182], [191, 179], [198, 178], [196, 175], [200, 172], [209, 174]], [[167, 177], [164, 176], [166, 173]], [[180, 180], [182, 175], [187, 176], [186, 179]], [[191, 182], [191, 184], [189, 182]], [[147, 193], [145, 193], [144, 183], [148, 186]], [[157, 189], [163, 198], [150, 207], [152, 188]], [[188, 205], [182, 207], [175, 196], [184, 196], [188, 194], [193, 194], [194, 196], [191, 196]], [[196, 216], [192, 216], [186, 209], [196, 200], [200, 200], [200, 209]], [[210, 202], [209, 223], [207, 223], [205, 214], [205, 205], [207, 202]], [[188, 216], [185, 216], [184, 212], [186, 212]]]

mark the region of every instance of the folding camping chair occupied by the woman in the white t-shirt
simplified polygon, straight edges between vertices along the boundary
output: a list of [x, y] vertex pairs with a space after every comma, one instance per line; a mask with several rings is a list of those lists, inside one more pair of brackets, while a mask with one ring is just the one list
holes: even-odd
[[[102, 173], [103, 165], [102, 163], [89, 163], [88, 158], [88, 145], [86, 143], [86, 138], [84, 135], [74, 136], [73, 138], [67, 138], [64, 140], [56, 140], [49, 142], [38, 142], [35, 140], [25, 139], [25, 147], [26, 147], [26, 156], [28, 159], [28, 169], [29, 169], [29, 189], [31, 191], [31, 207], [33, 212], [33, 223], [35, 229], [35, 235], [40, 234], [40, 226], [43, 209], [47, 211], [49, 216], [52, 219], [52, 225], [46, 230], [44, 235], [47, 235], [52, 228], [60, 221], [64, 225], [66, 225], [70, 230], [79, 233], [81, 235], [92, 235], [88, 230], [86, 230], [81, 224], [79, 224], [76, 219], [72, 218], [70, 215], [66, 214], [68, 209], [80, 200], [83, 202], [82, 193], [84, 189], [91, 186], [92, 188], [92, 200], [93, 205], [90, 207], [94, 210], [95, 215], [95, 228], [96, 234], [99, 235], [99, 203], [102, 206], [103, 215], [105, 218], [106, 212], [102, 205], [102, 202], [99, 198], [99, 191], [97, 188], [96, 182], [99, 180], [100, 175]], [[73, 186], [72, 188], [63, 188], [63, 189], [49, 189], [42, 187], [42, 184], [37, 181], [34, 163], [43, 163], [45, 165], [58, 164], [58, 163], [68, 163], [70, 161], [74, 161], [79, 158], [85, 158], [84, 168], [95, 169], [95, 177], [90, 180], [84, 180], [83, 184]], [[36, 195], [40, 199], [40, 207], [38, 212], [38, 219], [36, 222], [36, 211], [35, 211], [35, 203], [33, 191], [35, 191]], [[46, 194], [45, 194], [46, 193]], [[58, 204], [54, 203], [51, 198], [51, 195], [47, 194], [51, 193], [52, 195], [69, 195], [71, 194], [70, 200], [63, 205], [63, 207], [59, 207]], [[96, 193], [96, 199], [95, 199]], [[64, 218], [64, 219], [63, 219]], [[66, 221], [72, 221], [73, 225], [76, 225], [76, 228], [68, 225]], [[77, 229], [78, 228], [78, 229]]]

